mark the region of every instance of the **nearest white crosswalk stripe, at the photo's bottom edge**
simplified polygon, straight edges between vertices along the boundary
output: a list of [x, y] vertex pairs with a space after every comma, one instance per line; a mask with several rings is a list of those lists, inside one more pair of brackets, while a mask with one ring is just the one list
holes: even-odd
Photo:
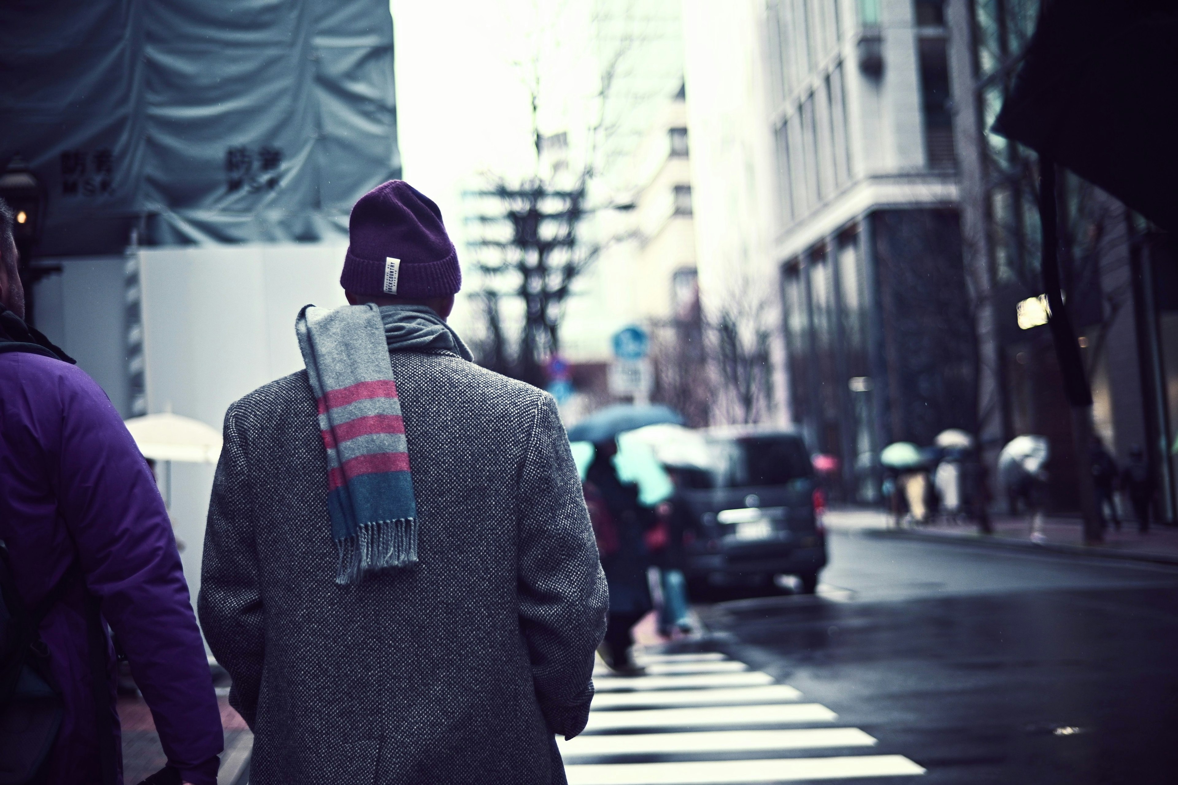
[[904, 756], [704, 760], [565, 766], [569, 785], [717, 785], [845, 777], [900, 777], [925, 770]]

